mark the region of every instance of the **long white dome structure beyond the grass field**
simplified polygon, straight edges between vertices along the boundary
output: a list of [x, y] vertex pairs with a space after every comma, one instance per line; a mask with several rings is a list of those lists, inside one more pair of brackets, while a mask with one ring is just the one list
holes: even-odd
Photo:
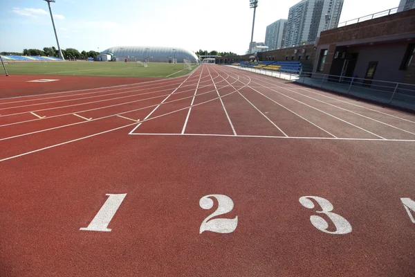
[[189, 59], [196, 62], [199, 58], [193, 51], [180, 47], [160, 46], [116, 46], [105, 49], [98, 55], [99, 60], [113, 60], [123, 62], [125, 59], [131, 62], [169, 62], [177, 59]]

